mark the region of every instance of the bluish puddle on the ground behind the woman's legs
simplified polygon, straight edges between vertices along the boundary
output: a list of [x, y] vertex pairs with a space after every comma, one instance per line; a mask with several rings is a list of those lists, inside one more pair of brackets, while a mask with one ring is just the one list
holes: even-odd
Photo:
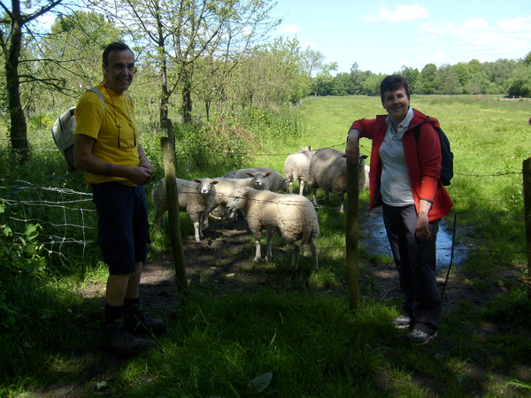
[[[451, 258], [451, 241], [453, 233], [453, 218], [443, 218], [439, 224], [439, 232], [437, 233], [437, 264], [438, 270], [448, 268]], [[393, 256], [391, 249], [389, 249], [389, 241], [383, 226], [383, 218], [381, 216], [381, 208], [376, 208], [369, 212], [369, 218], [363, 225], [360, 224], [360, 239], [361, 244], [373, 254], [385, 254]], [[466, 260], [465, 248], [460, 248], [457, 245], [454, 247], [453, 264], [458, 266], [463, 264]]]

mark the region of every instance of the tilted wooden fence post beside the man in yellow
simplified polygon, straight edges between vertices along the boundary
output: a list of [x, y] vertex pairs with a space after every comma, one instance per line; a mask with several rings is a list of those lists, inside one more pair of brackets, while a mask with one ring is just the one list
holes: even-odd
[[186, 266], [184, 264], [184, 252], [182, 250], [181, 227], [179, 225], [179, 197], [177, 192], [177, 173], [175, 171], [175, 150], [173, 142], [168, 137], [160, 139], [162, 147], [162, 161], [165, 172], [165, 194], [168, 204], [168, 218], [170, 228], [170, 241], [172, 245], [173, 265], [179, 293], [188, 294], [188, 281], [186, 278]]

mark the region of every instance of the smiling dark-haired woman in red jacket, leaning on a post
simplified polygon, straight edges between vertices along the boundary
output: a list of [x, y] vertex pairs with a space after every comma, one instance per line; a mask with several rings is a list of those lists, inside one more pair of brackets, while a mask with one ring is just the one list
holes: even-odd
[[[426, 344], [437, 335], [441, 297], [435, 279], [439, 221], [453, 202], [440, 182], [441, 144], [435, 126], [410, 106], [407, 81], [389, 75], [381, 81], [381, 104], [388, 115], [360, 119], [350, 127], [346, 157], [355, 162], [359, 138], [373, 140], [370, 170], [370, 209], [383, 208], [383, 221], [399, 272], [404, 303], [392, 320], [411, 328], [407, 338]], [[413, 128], [420, 125], [418, 139]]]

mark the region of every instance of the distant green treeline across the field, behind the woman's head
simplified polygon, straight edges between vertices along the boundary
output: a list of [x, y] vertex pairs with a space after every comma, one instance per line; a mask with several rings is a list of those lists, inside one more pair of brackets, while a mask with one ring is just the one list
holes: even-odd
[[[332, 76], [330, 68], [317, 74], [313, 92], [317, 96], [378, 96], [382, 74], [360, 71], [352, 65], [350, 73]], [[457, 65], [427, 64], [419, 69], [404, 66], [396, 71], [410, 85], [412, 94], [494, 94], [531, 96], [531, 52], [519, 60], [498, 59], [481, 63], [473, 59]]]

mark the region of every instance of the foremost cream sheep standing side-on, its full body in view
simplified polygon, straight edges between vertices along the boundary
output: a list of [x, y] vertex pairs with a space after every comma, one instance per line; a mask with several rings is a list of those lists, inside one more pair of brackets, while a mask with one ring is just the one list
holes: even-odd
[[266, 261], [273, 258], [272, 242], [275, 234], [281, 235], [293, 247], [291, 267], [297, 268], [300, 246], [308, 243], [312, 251], [313, 269], [319, 270], [317, 258], [317, 238], [319, 221], [312, 202], [301, 195], [283, 195], [271, 191], [258, 191], [254, 188], [236, 188], [229, 195], [227, 210], [242, 210], [247, 218], [250, 232], [255, 236], [255, 261], [262, 258], [260, 239], [266, 230]]

